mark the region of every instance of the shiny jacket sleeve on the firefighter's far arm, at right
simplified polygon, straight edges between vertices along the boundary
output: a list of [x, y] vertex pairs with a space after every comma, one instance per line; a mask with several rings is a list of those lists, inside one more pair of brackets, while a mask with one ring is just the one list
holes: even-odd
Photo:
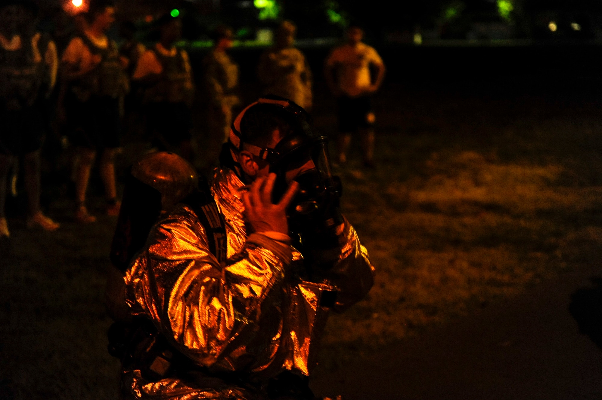
[[[320, 271], [320, 277], [337, 286], [338, 294], [333, 310], [344, 312], [362, 300], [374, 285], [374, 267], [370, 263], [368, 250], [359, 242], [358, 234], [347, 219], [338, 234], [340, 246], [335, 250], [337, 261], [332, 268]], [[333, 258], [332, 253], [320, 258]]]

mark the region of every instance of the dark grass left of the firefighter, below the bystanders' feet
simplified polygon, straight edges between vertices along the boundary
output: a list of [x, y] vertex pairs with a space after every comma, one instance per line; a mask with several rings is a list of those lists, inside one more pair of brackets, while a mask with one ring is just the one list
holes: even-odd
[[[67, 214], [65, 203], [51, 215]], [[67, 220], [47, 233], [9, 220], [13, 237], [0, 258], [0, 398], [117, 398], [119, 361], [107, 353], [103, 303], [114, 222]]]

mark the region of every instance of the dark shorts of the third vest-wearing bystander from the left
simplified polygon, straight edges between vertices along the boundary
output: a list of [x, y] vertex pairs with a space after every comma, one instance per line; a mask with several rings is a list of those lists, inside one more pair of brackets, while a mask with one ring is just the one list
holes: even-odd
[[148, 131], [157, 145], [177, 146], [190, 141], [191, 112], [186, 103], [150, 103], [147, 108]]

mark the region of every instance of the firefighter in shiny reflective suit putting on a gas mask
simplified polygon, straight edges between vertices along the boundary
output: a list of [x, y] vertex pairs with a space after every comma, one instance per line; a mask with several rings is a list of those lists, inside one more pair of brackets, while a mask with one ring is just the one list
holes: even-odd
[[[112, 257], [125, 273], [110, 290], [122, 299], [111, 302], [123, 311], [113, 314], [129, 321], [110, 330], [123, 399], [315, 399], [308, 375], [327, 315], [364, 297], [374, 268], [338, 212], [326, 141], [307, 118], [288, 100], [262, 98], [234, 121], [209, 194], [199, 184], [174, 206], [175, 190], [163, 187], [134, 201], [132, 217], [124, 195], [120, 220], [135, 221], [149, 219], [141, 208], [159, 215], [142, 199], [172, 193], [158, 222], [139, 230], [150, 231], [141, 250], [127, 246], [133, 238], [114, 241], [113, 254], [134, 255], [131, 263]], [[166, 178], [138, 180], [156, 186]], [[133, 184], [128, 193], [146, 193]], [[135, 225], [118, 223], [116, 238]]]

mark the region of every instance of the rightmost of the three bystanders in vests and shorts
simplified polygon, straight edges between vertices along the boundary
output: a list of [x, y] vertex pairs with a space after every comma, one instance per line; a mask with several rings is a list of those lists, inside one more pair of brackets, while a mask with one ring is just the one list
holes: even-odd
[[160, 40], [140, 57], [133, 79], [143, 87], [147, 126], [155, 147], [177, 150], [190, 160], [194, 80], [188, 53], [175, 46], [182, 37], [182, 21], [165, 14], [158, 27]]

